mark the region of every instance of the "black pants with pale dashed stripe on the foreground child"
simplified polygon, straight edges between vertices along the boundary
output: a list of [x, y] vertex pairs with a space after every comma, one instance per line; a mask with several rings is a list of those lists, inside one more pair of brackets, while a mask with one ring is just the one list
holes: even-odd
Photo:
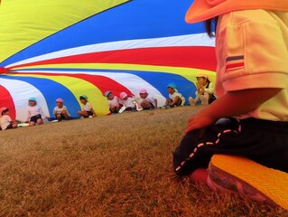
[[186, 134], [173, 154], [177, 175], [207, 168], [214, 154], [245, 156], [288, 172], [288, 122], [222, 118], [206, 128]]

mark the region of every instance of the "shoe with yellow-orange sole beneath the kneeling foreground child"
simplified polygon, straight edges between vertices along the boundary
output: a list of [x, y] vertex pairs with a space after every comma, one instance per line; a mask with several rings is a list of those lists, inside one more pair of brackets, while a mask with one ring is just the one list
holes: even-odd
[[288, 174], [282, 171], [240, 156], [214, 155], [209, 164], [209, 178], [216, 188], [220, 185], [220, 189], [288, 210]]

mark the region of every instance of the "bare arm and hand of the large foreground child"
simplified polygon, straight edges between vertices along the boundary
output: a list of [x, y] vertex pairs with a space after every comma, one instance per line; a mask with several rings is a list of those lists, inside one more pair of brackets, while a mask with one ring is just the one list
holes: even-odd
[[215, 100], [209, 107], [201, 110], [196, 116], [191, 117], [186, 132], [207, 127], [218, 120], [218, 118], [229, 118], [245, 114], [256, 109], [280, 91], [281, 89], [266, 88], [228, 92], [223, 97]]

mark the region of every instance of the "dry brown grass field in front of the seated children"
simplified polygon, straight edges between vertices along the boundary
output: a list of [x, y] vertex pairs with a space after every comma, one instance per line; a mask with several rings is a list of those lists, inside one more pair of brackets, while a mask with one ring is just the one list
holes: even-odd
[[0, 216], [288, 216], [172, 172], [198, 109], [0, 131]]

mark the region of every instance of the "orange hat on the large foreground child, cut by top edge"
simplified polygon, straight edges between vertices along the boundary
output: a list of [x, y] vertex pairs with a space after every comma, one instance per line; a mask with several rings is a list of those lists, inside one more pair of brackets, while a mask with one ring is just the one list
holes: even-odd
[[194, 24], [220, 14], [248, 9], [288, 11], [288, 0], [195, 0], [185, 20]]

